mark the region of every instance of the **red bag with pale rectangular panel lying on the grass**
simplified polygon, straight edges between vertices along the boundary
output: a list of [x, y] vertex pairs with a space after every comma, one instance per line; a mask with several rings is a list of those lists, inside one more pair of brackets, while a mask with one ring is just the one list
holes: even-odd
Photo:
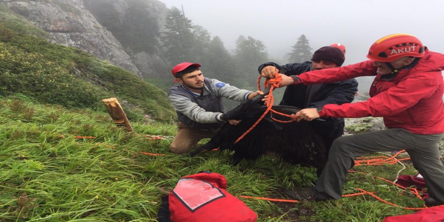
[[227, 180], [217, 173], [181, 178], [168, 198], [171, 221], [256, 221], [256, 213], [225, 189]]

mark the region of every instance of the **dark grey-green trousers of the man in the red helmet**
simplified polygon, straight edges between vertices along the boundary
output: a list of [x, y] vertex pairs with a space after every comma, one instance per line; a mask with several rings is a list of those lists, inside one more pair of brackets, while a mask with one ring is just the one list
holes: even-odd
[[419, 135], [400, 128], [340, 137], [331, 145], [327, 163], [314, 189], [339, 199], [347, 171], [353, 167], [355, 157], [405, 149], [413, 166], [424, 177], [427, 192], [444, 203], [444, 165], [439, 159], [438, 146], [442, 137], [444, 133]]

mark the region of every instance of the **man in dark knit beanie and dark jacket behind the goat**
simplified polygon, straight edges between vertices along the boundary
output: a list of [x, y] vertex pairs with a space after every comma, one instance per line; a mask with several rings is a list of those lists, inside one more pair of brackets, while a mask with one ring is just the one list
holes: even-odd
[[[345, 51], [345, 47], [344, 47]], [[344, 63], [344, 52], [338, 47], [325, 46], [313, 53], [312, 62], [293, 63], [280, 66], [265, 63], [259, 66], [259, 73], [276, 72], [287, 76], [299, 75], [312, 70], [340, 67]], [[284, 92], [280, 105], [291, 105], [298, 108], [316, 108], [321, 110], [326, 104], [343, 104], [351, 102], [358, 91], [358, 82], [349, 79], [341, 82], [316, 85], [290, 85]], [[325, 118], [325, 122], [314, 121], [316, 131], [324, 138], [325, 147], [330, 148], [333, 141], [344, 134], [343, 118]], [[320, 173], [320, 172], [319, 172]]]

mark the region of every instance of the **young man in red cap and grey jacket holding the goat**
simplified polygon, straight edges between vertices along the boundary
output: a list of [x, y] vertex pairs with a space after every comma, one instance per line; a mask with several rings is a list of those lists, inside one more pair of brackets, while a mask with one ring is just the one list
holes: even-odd
[[214, 137], [226, 121], [233, 125], [239, 123], [224, 116], [223, 97], [240, 102], [263, 94], [261, 91], [238, 89], [216, 79], [205, 78], [199, 67], [200, 64], [186, 62], [171, 70], [175, 81], [180, 84], [168, 92], [168, 98], [176, 108], [180, 121], [178, 132], [170, 145], [173, 153], [186, 153], [199, 140]]

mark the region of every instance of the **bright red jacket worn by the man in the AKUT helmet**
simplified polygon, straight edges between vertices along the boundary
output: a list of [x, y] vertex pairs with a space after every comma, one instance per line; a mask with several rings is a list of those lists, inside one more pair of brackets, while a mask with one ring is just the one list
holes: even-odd
[[327, 104], [320, 117], [383, 117], [387, 128], [403, 128], [413, 134], [444, 133], [444, 54], [428, 51], [411, 69], [401, 70], [390, 81], [376, 75], [371, 61], [299, 75], [306, 85], [376, 76], [367, 101]]

